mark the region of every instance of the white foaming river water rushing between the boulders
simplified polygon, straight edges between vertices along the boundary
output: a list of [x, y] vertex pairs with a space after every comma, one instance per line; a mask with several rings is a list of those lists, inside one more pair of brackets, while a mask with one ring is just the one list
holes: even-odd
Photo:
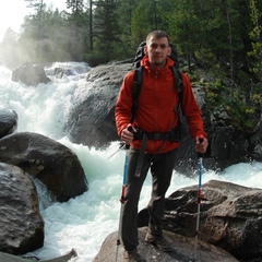
[[[55, 79], [55, 67], [74, 68], [78, 75]], [[80, 158], [85, 170], [90, 189], [67, 203], [52, 203], [45, 188], [37, 183], [40, 195], [40, 212], [45, 221], [45, 243], [32, 254], [50, 259], [67, 253], [74, 248], [78, 262], [91, 262], [105, 238], [118, 230], [120, 195], [124, 152], [118, 142], [97, 151], [71, 143], [63, 133], [63, 124], [73, 103], [76, 88], [88, 90], [84, 79], [88, 67], [84, 63], [53, 64], [47, 69], [52, 83], [28, 87], [11, 81], [12, 72], [0, 67], [0, 108], [13, 109], [19, 115], [17, 132], [29, 131], [47, 135], [70, 147]], [[111, 156], [110, 158], [108, 158]], [[204, 165], [204, 163], [203, 163]], [[205, 170], [202, 183], [211, 179], [230, 181], [241, 186], [262, 189], [262, 163], [238, 164], [222, 174]], [[198, 178], [189, 178], [174, 172], [168, 194], [175, 190], [196, 184]], [[147, 205], [151, 195], [151, 176], [144, 183], [140, 209]]]

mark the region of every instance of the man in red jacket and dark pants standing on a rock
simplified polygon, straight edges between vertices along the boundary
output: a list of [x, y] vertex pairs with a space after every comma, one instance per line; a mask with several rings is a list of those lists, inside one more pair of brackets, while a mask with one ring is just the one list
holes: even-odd
[[[165, 193], [170, 184], [171, 174], [179, 142], [172, 140], [154, 139], [159, 133], [169, 133], [179, 122], [179, 97], [174, 87], [174, 74], [170, 67], [174, 61], [168, 57], [171, 52], [169, 37], [163, 31], [154, 31], [146, 37], [145, 57], [141, 61], [144, 67], [143, 84], [138, 100], [138, 109], [130, 130], [132, 115], [133, 71], [129, 72], [122, 83], [116, 104], [116, 126], [120, 139], [130, 144], [128, 177], [122, 216], [122, 242], [128, 261], [141, 261], [136, 247], [138, 240], [138, 203], [143, 182], [148, 169], [153, 178], [152, 195], [148, 203], [150, 223], [145, 241], [155, 245], [163, 251], [170, 251], [171, 247], [163, 237], [162, 217], [164, 215]], [[189, 79], [182, 73], [182, 110], [187, 118], [190, 133], [195, 141], [195, 150], [204, 153], [207, 140], [203, 130], [200, 109], [195, 103]], [[138, 133], [153, 134], [135, 139]], [[200, 138], [203, 136], [203, 141]], [[144, 138], [146, 138], [144, 140]], [[200, 143], [201, 142], [201, 143]], [[140, 148], [145, 145], [144, 154]], [[138, 163], [142, 165], [136, 170]]]

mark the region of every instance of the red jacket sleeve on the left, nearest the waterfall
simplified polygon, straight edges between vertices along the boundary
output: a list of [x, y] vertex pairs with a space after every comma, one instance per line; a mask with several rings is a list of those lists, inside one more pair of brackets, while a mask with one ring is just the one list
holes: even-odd
[[133, 88], [133, 71], [129, 72], [122, 82], [115, 108], [115, 119], [118, 135], [130, 123], [132, 108], [132, 88]]

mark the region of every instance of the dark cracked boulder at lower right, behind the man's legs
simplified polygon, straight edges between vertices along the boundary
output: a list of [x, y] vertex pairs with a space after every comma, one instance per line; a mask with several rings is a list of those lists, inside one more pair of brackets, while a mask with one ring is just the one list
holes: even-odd
[[[166, 199], [164, 228], [195, 236], [198, 186], [179, 189]], [[262, 261], [262, 190], [211, 180], [202, 186], [200, 235], [241, 261]], [[139, 214], [139, 226], [148, 224], [148, 213]], [[254, 241], [255, 240], [255, 241]]]

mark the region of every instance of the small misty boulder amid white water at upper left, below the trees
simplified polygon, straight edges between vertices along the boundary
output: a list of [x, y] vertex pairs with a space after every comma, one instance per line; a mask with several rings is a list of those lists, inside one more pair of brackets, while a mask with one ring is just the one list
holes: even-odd
[[12, 81], [26, 85], [37, 86], [40, 83], [49, 83], [51, 80], [47, 78], [44, 67], [39, 64], [25, 63], [12, 72]]

